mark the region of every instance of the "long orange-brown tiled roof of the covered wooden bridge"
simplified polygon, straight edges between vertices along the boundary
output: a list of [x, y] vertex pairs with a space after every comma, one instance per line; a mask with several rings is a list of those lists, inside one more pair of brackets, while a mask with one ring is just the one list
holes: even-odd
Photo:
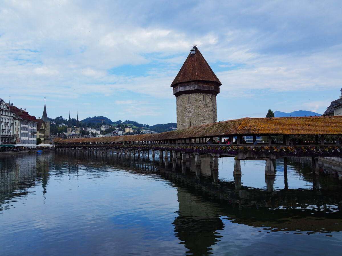
[[[58, 143], [129, 142], [220, 137], [228, 135], [339, 135], [342, 116], [273, 117], [229, 120], [155, 134], [59, 140]], [[56, 142], [56, 141], [55, 141]]]

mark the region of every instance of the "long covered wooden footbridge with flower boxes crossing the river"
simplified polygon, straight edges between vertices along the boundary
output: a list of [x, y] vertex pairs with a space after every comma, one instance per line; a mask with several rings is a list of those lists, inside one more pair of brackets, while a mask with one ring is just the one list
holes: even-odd
[[[234, 157], [234, 174], [241, 175], [240, 160], [264, 159], [265, 175], [274, 175], [272, 160], [283, 158], [286, 170], [287, 157], [311, 157], [318, 172], [318, 157], [342, 157], [340, 145], [327, 142], [328, 136], [342, 134], [342, 116], [241, 118], [225, 122], [188, 127], [158, 134], [84, 138], [62, 140], [56, 138], [56, 150], [85, 151], [101, 154], [152, 155], [159, 150], [160, 158], [186, 162], [195, 157], [195, 165], [201, 164], [201, 155], [210, 155], [215, 169], [215, 158]], [[243, 136], [265, 136], [268, 143], [241, 144]], [[282, 136], [282, 142], [272, 144], [273, 136]], [[290, 136], [312, 136], [314, 141], [293, 145]], [[226, 145], [218, 138], [236, 138], [236, 144]]]

